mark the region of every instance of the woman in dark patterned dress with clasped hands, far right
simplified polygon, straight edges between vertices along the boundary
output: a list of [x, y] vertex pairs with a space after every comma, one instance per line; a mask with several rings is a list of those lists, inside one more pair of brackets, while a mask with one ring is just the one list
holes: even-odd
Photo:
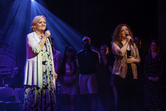
[[159, 53], [157, 40], [151, 42], [149, 55], [145, 59], [145, 107], [150, 111], [161, 111], [166, 107], [165, 60]]

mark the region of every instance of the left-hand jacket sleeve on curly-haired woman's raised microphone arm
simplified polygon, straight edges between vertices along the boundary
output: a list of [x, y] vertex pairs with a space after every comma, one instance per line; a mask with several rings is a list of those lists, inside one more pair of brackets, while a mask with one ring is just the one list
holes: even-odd
[[122, 54], [122, 52], [120, 51], [120, 47], [115, 42], [112, 43], [112, 53], [118, 57], [124, 56], [124, 54]]

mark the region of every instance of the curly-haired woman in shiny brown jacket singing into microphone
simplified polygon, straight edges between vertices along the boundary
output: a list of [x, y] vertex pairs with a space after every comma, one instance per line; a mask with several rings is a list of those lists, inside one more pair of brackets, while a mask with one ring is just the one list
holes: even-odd
[[116, 110], [131, 111], [131, 100], [136, 86], [137, 63], [140, 56], [137, 46], [132, 43], [130, 27], [120, 24], [112, 37], [112, 52], [115, 57], [112, 74], [117, 91]]

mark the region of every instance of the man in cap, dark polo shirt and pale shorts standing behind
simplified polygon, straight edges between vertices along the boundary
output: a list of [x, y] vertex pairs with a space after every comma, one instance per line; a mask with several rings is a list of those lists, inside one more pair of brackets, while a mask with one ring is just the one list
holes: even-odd
[[80, 71], [80, 94], [83, 98], [84, 110], [89, 111], [91, 107], [91, 111], [96, 111], [97, 75], [99, 74], [100, 55], [91, 49], [89, 37], [84, 37], [82, 44], [84, 49], [77, 54]]

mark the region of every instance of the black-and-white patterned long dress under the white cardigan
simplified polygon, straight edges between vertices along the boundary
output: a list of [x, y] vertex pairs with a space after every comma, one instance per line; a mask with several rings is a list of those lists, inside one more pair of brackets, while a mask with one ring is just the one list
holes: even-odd
[[52, 55], [51, 47], [47, 45], [48, 42], [47, 40], [40, 52], [42, 55], [43, 86], [42, 88], [37, 86], [25, 86], [24, 111], [56, 111]]

